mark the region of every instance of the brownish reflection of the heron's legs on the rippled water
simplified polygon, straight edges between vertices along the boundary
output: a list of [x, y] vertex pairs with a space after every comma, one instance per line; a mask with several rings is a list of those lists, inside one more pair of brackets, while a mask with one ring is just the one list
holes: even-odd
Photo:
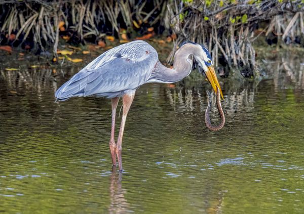
[[116, 166], [112, 167], [110, 177], [110, 206], [109, 213], [126, 213], [129, 204], [125, 199], [126, 190], [122, 188], [122, 172], [117, 172]]

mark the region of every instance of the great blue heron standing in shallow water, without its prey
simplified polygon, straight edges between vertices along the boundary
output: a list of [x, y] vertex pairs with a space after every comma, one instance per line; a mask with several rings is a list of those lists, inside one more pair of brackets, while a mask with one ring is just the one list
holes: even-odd
[[[55, 93], [55, 97], [64, 101], [71, 97], [107, 97], [112, 103], [112, 125], [109, 147], [112, 163], [122, 170], [122, 140], [128, 111], [132, 104], [135, 91], [140, 85], [149, 82], [177, 82], [192, 70], [193, 55], [203, 69], [215, 92], [219, 90], [211, 56], [208, 50], [194, 42], [183, 42], [174, 55], [173, 68], [167, 68], [158, 59], [157, 51], [147, 42], [135, 40], [112, 48], [101, 54], [70, 80], [65, 82]], [[217, 93], [219, 95], [219, 93]], [[123, 116], [115, 143], [115, 116], [119, 98], [123, 99]]]

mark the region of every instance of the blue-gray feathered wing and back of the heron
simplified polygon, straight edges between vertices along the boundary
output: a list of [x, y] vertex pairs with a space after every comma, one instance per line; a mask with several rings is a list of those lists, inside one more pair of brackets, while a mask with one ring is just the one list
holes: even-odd
[[149, 78], [158, 61], [156, 50], [136, 40], [113, 48], [75, 74], [55, 93], [58, 99], [136, 89]]

